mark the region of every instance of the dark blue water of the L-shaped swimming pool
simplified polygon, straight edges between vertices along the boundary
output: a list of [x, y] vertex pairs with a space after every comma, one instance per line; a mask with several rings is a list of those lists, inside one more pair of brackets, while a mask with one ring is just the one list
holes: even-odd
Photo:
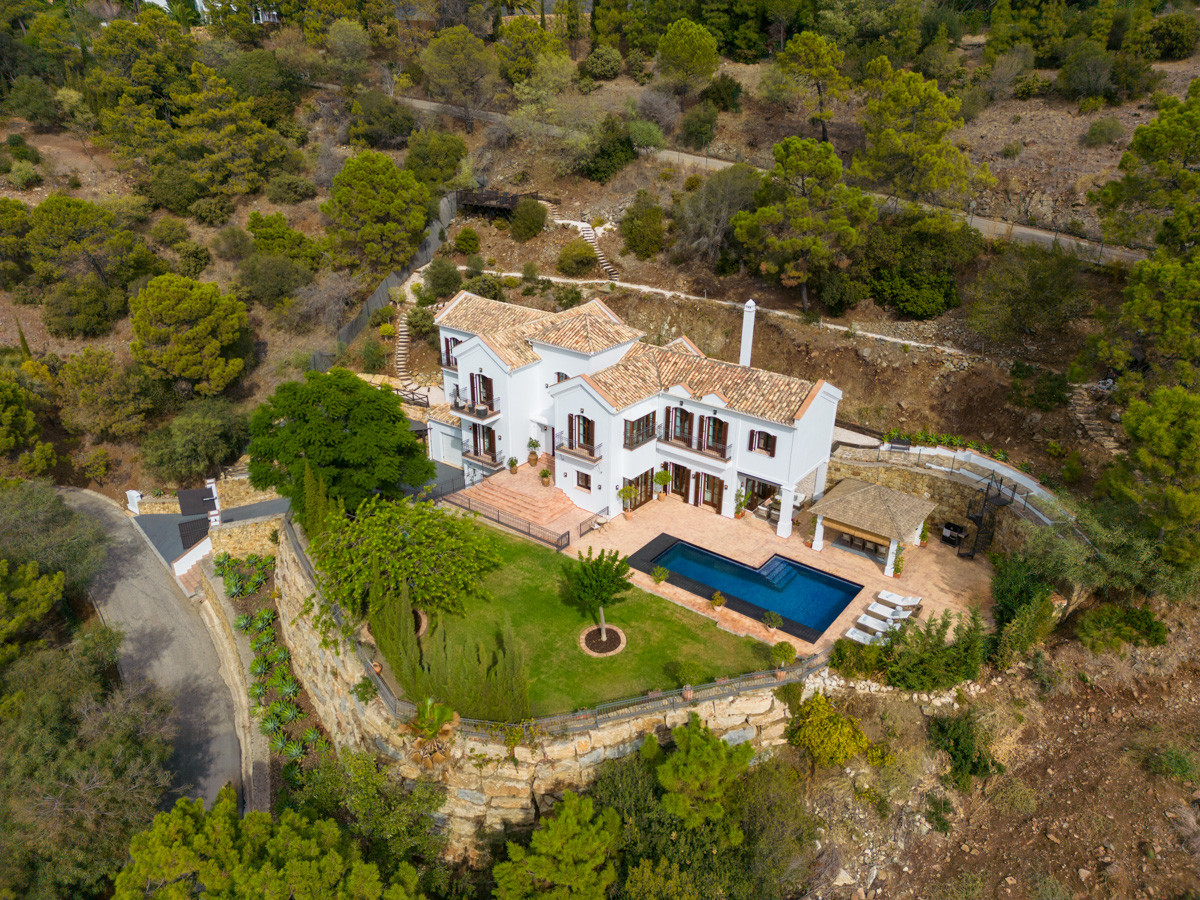
[[[824, 631], [854, 599], [862, 584], [774, 556], [754, 569], [678, 541], [654, 558], [654, 565], [720, 590], [816, 632]], [[732, 608], [736, 608], [731, 604]]]

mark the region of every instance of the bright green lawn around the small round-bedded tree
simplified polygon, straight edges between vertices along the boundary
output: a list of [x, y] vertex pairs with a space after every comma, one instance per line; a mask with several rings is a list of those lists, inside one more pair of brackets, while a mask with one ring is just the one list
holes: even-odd
[[469, 602], [464, 616], [442, 616], [451, 646], [496, 647], [508, 617], [529, 664], [534, 715], [551, 715], [679, 686], [673, 666], [701, 664], [710, 678], [770, 666], [770, 648], [721, 631], [703, 616], [634, 588], [605, 610], [605, 620], [625, 632], [625, 649], [595, 659], [580, 649], [580, 630], [590, 619], [560, 594], [568, 558], [530, 541], [493, 532], [503, 565], [484, 584], [486, 602]]

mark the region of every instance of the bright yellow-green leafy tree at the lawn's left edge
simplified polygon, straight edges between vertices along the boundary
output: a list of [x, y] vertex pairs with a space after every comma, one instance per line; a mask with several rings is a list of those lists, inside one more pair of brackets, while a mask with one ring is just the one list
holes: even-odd
[[313, 556], [325, 599], [359, 618], [371, 602], [396, 602], [406, 587], [414, 606], [461, 612], [499, 565], [474, 522], [432, 503], [379, 497], [364, 500], [353, 517], [331, 516]]

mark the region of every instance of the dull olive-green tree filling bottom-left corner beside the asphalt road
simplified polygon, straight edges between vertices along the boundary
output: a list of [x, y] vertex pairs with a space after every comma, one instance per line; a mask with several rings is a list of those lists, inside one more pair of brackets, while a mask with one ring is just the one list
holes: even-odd
[[120, 636], [10, 666], [0, 730], [0, 893], [98, 896], [170, 784], [169, 702], [109, 679]]

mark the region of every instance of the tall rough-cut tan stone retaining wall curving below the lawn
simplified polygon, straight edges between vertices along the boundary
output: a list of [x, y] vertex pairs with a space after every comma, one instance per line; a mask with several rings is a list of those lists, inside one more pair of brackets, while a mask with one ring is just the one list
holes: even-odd
[[275, 571], [280, 624], [292, 650], [293, 671], [337, 745], [373, 750], [394, 760], [404, 779], [437, 779], [446, 786], [442, 815], [454, 858], [473, 854], [479, 828], [532, 824], [564, 791], [590, 784], [605, 760], [634, 752], [649, 734], [662, 739], [692, 712], [730, 743], [769, 748], [784, 742], [787, 709], [773, 689], [763, 688], [570, 736], [539, 736], [511, 752], [503, 734], [487, 739], [460, 733], [448, 763], [434, 770], [419, 768], [409, 758], [408, 739], [397, 730], [401, 722], [383, 701], [377, 697], [361, 703], [352, 694], [367, 674], [354, 648], [344, 641], [338, 653], [322, 646], [306, 612], [316, 584], [298, 540], [290, 528], [281, 530]]

